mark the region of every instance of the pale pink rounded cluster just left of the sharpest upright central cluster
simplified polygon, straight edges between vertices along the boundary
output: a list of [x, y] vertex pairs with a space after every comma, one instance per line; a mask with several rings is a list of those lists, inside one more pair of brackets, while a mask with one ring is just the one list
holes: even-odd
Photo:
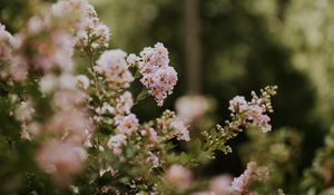
[[127, 53], [120, 49], [106, 50], [97, 60], [94, 69], [106, 77], [110, 88], [128, 88], [134, 81], [126, 61]]

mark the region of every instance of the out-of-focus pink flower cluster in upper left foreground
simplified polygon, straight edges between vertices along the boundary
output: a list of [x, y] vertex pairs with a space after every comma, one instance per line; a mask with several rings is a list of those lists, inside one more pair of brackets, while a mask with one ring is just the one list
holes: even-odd
[[11, 41], [11, 78], [23, 80], [29, 70], [72, 71], [72, 38], [70, 30], [52, 14], [31, 17]]

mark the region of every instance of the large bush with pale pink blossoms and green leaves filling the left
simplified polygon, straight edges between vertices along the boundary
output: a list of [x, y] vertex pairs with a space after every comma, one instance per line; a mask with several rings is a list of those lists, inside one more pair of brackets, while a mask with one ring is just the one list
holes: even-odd
[[[12, 156], [3, 166], [22, 167], [4, 173], [13, 176], [1, 193], [237, 195], [267, 179], [267, 168], [255, 162], [239, 177], [209, 183], [191, 169], [216, 150], [230, 153], [227, 142], [243, 130], [271, 131], [275, 86], [253, 91], [249, 101], [236, 96], [230, 120], [193, 139], [187, 124], [206, 103], [194, 115], [165, 110], [150, 121], [131, 111], [147, 96], [163, 106], [173, 92], [178, 78], [165, 46], [127, 55], [109, 49], [109, 39], [85, 0], [42, 8], [14, 35], [0, 26], [1, 153]], [[136, 79], [139, 94], [130, 91]], [[184, 145], [194, 148], [177, 149]]]

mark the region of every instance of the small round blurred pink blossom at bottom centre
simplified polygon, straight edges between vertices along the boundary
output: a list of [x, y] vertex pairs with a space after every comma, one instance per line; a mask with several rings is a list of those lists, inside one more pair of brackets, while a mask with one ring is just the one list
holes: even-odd
[[181, 189], [185, 189], [190, 185], [193, 181], [193, 174], [184, 166], [175, 164], [166, 170], [165, 179], [168, 183], [174, 184]]

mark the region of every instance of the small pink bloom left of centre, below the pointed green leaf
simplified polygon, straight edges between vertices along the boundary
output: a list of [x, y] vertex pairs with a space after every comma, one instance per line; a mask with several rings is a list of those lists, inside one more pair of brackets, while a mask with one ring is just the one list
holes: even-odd
[[121, 134], [130, 135], [139, 127], [139, 120], [136, 115], [116, 116], [115, 124]]

